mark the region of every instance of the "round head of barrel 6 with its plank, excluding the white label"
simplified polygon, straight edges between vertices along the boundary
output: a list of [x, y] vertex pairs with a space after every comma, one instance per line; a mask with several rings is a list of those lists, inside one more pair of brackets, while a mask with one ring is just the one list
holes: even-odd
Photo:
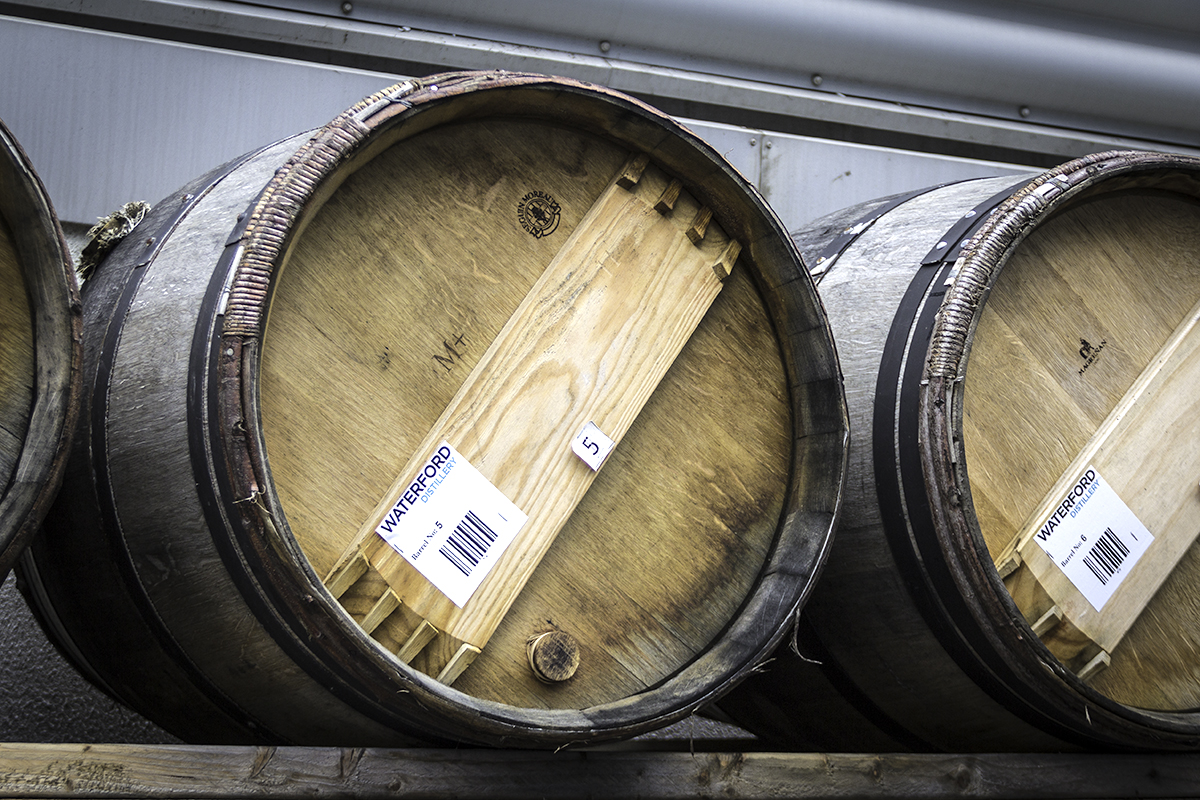
[[[1153, 708], [1200, 698], [1186, 667], [1196, 646], [1187, 633], [1190, 581], [1171, 581], [1172, 570], [1195, 569], [1188, 553], [1200, 476], [1192, 473], [1200, 465], [1187, 432], [1200, 379], [1198, 248], [1200, 209], [1177, 196], [1118, 193], [1048, 219], [1009, 259], [983, 308], [964, 402], [972, 499], [1002, 575], [1021, 565], [1006, 579], [1018, 606], [1031, 622], [1058, 606], [1063, 621], [1043, 637], [1051, 651], [1081, 668], [1109, 650], [1112, 666], [1093, 685]], [[1090, 362], [1082, 342], [1096, 355]], [[1156, 536], [1102, 613], [1028, 541], [1085, 462]], [[1127, 638], [1135, 643], [1128, 652], [1118, 644]]]

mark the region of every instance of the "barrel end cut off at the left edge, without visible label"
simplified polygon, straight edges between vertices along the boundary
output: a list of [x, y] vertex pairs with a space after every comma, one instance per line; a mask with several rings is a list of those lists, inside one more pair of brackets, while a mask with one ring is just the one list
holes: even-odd
[[78, 408], [80, 327], [54, 207], [0, 122], [0, 581], [59, 488]]

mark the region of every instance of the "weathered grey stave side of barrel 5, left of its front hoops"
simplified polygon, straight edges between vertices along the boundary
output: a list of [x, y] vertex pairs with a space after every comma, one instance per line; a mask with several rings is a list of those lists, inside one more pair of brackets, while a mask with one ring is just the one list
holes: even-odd
[[[188, 736], [200, 741], [260, 741], [238, 723], [260, 724], [284, 696], [293, 709], [320, 709], [308, 717], [311, 724], [305, 714], [289, 714], [298, 729], [386, 735], [382, 726], [331, 698], [326, 686], [307, 678], [263, 632], [206, 527], [187, 439], [164, 433], [187, 429], [188, 349], [211, 265], [224, 249], [230, 224], [300, 140], [250, 154], [162, 199], [143, 230], [157, 235], [169, 229], [170, 236], [157, 236], [161, 246], [151, 263], [138, 266], [149, 236], [130, 237], [86, 282], [85, 385], [92, 390], [73, 437], [67, 488], [23, 565], [43, 608], [53, 609], [44, 616], [55, 625], [52, 637], [77, 663], [158, 724], [185, 721]], [[188, 203], [188, 213], [169, 227]], [[199, 261], [210, 269], [197, 270]], [[120, 301], [130, 283], [138, 294], [126, 309]], [[121, 325], [109, 327], [118, 309]], [[102, 362], [112, 374], [97, 380]], [[109, 392], [109, 381], [139, 391]], [[90, 411], [97, 405], [104, 405], [102, 428], [92, 426]], [[106, 446], [96, 446], [97, 439]], [[107, 486], [97, 486], [96, 452], [104, 453], [110, 468], [103, 474]], [[120, 509], [115, 521], [104, 515], [107, 504]], [[109, 535], [122, 537], [127, 561], [114, 557]], [[148, 576], [146, 588], [130, 581], [139, 570]], [[151, 602], [158, 631], [143, 621]], [[197, 614], [198, 604], [203, 614]], [[190, 660], [180, 663], [178, 650], [163, 646], [163, 630], [170, 631], [173, 646], [191, 652]], [[205, 696], [204, 681], [222, 685], [216, 700]], [[230, 703], [241, 710], [230, 715]], [[416, 741], [401, 738], [394, 746]]]

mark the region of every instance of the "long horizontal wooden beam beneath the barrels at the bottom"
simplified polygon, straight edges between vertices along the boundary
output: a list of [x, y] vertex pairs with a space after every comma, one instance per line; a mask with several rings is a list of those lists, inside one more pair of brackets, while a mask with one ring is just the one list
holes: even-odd
[[0, 744], [0, 796], [1195, 798], [1200, 757]]

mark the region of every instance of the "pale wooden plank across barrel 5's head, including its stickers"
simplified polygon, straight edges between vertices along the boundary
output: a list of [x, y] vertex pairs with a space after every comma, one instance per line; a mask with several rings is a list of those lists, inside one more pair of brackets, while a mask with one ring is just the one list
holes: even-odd
[[[613, 176], [326, 581], [344, 590], [350, 582], [338, 578], [348, 573], [370, 567], [383, 576], [389, 591], [372, 607], [368, 625], [404, 604], [446, 636], [454, 655], [438, 674], [443, 682], [452, 682], [487, 643], [592, 485], [600, 463], [577, 458], [574, 439], [590, 423], [599, 431], [593, 438], [608, 439], [606, 453], [620, 441], [740, 251], [715, 224], [706, 225], [706, 236], [690, 236], [707, 209], [680, 198], [678, 180], [655, 168], [647, 174], [648, 163], [644, 154], [635, 156]], [[451, 452], [464, 459], [463, 469], [486, 469], [484, 479], [529, 516], [524, 524], [503, 516], [466, 522], [472, 500], [481, 498], [463, 497], [455, 498], [450, 519], [434, 521], [444, 535], [428, 540], [425, 529], [412, 529], [406, 512], [428, 501], [434, 480], [452, 475], [451, 464], [440, 467]], [[510, 522], [516, 541], [502, 529]], [[412, 530], [408, 541], [392, 530], [401, 525]], [[437, 548], [427, 548], [426, 563], [438, 555], [445, 561], [418, 572], [415, 557], [409, 561], [401, 547], [413, 553], [426, 541]], [[470, 583], [467, 591], [470, 577], [493, 564], [482, 585]], [[450, 587], [463, 588], [451, 597]], [[401, 652], [415, 656], [430, 633], [419, 626]]]

